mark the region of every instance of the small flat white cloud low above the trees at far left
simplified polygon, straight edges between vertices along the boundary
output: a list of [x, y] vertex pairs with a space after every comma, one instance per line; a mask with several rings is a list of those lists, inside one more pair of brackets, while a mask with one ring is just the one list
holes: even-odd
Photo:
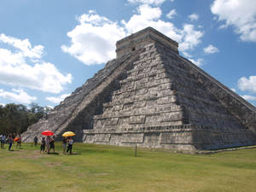
[[29, 104], [37, 100], [35, 96], [29, 96], [24, 90], [12, 89], [13, 92], [0, 90], [0, 96], [13, 102]]

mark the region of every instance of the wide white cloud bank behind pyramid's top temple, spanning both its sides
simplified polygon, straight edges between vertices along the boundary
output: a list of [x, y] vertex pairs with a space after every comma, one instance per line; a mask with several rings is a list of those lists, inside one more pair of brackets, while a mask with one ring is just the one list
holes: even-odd
[[90, 11], [89, 14], [81, 15], [78, 18], [79, 25], [67, 32], [71, 44], [62, 45], [61, 49], [86, 65], [104, 63], [115, 57], [116, 41], [148, 26], [176, 40], [180, 51], [194, 49], [201, 43], [203, 32], [196, 30], [195, 26], [183, 24], [183, 28], [178, 29], [172, 22], [160, 20], [161, 15], [159, 7], [143, 4], [130, 20], [118, 23]]

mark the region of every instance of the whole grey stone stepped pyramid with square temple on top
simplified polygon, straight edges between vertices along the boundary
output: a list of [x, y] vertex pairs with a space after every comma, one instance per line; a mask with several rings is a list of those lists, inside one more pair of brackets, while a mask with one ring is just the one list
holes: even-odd
[[152, 27], [119, 40], [117, 58], [22, 134], [145, 148], [217, 149], [256, 144], [256, 108], [178, 55]]

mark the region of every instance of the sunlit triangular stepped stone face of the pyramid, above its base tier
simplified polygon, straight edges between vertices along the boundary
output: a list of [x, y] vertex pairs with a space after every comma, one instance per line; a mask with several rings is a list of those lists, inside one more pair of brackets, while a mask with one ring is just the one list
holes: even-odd
[[103, 113], [94, 117], [95, 130], [183, 125], [185, 114], [177, 104], [177, 93], [167, 77], [155, 44], [145, 51], [121, 80], [112, 101], [103, 104]]

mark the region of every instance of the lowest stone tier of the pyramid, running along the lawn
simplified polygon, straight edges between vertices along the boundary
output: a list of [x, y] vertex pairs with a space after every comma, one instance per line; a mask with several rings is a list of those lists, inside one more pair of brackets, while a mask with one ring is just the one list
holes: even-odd
[[211, 150], [253, 145], [256, 137], [250, 130], [216, 129], [203, 125], [175, 125], [121, 130], [84, 130], [84, 143], [169, 148], [178, 150]]

